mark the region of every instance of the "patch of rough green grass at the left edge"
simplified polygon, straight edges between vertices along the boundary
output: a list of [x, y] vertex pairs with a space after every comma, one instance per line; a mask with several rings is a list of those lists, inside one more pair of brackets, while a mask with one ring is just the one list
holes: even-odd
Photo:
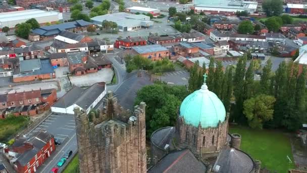
[[29, 119], [27, 116], [14, 115], [0, 119], [0, 142], [7, 142], [12, 135], [28, 124]]

